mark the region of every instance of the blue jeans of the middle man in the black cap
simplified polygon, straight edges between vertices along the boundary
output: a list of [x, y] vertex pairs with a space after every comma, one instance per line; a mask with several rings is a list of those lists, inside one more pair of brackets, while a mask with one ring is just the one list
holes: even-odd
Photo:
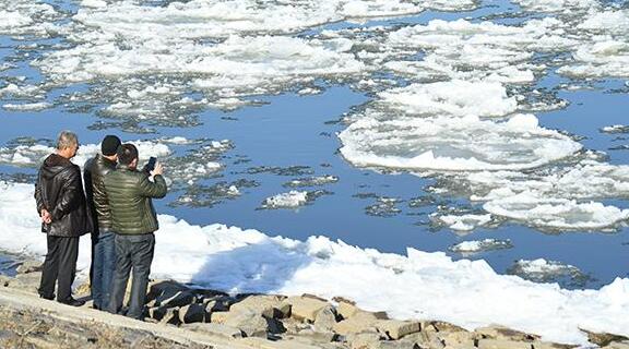
[[108, 309], [111, 297], [111, 279], [116, 269], [116, 234], [102, 228], [98, 236], [92, 237], [92, 299], [94, 308]]

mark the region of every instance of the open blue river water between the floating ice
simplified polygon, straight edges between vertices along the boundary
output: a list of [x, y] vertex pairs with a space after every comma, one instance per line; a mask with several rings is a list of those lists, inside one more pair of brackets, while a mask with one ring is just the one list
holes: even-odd
[[[73, 12], [71, 1], [55, 1], [57, 5]], [[416, 16], [395, 20], [375, 20], [363, 24], [334, 23], [322, 28], [339, 29], [373, 25], [408, 25], [427, 23], [432, 19], [455, 20], [459, 17], [479, 21], [494, 13], [515, 12], [518, 7], [505, 1], [486, 2], [480, 9], [461, 13], [426, 12]], [[496, 22], [506, 24], [520, 23], [523, 19], [500, 17]], [[307, 31], [311, 35], [322, 28]], [[56, 43], [57, 39], [44, 40]], [[16, 56], [15, 46], [25, 44], [0, 36], [0, 64], [12, 61], [15, 69], [0, 72], [2, 81], [11, 76], [26, 76], [31, 83], [43, 77], [29, 67], [33, 52], [28, 58]], [[549, 75], [539, 82], [539, 87], [556, 86], [561, 77]], [[612, 164], [629, 164], [629, 151], [609, 151], [610, 147], [629, 144], [629, 140], [615, 140], [616, 135], [604, 134], [603, 127], [626, 123], [626, 110], [629, 99], [625, 93], [609, 93], [622, 82], [603, 81], [594, 91], [560, 91], [558, 97], [567, 99], [570, 105], [558, 111], [538, 113], [542, 125], [567, 131], [584, 136], [581, 143], [589, 149], [606, 152]], [[307, 239], [309, 236], [322, 234], [341, 239], [349, 244], [363, 248], [376, 248], [383, 252], [405, 253], [406, 248], [423, 251], [444, 251], [453, 258], [461, 255], [448, 252], [448, 248], [464, 240], [487, 238], [510, 239], [513, 249], [485, 252], [471, 258], [486, 260], [497, 272], [506, 273], [514, 261], [546, 260], [560, 261], [579, 267], [591, 276], [585, 284], [562, 284], [566, 287], [596, 288], [610, 282], [615, 277], [628, 276], [629, 236], [627, 228], [614, 232], [586, 231], [547, 233], [517, 224], [506, 224], [497, 229], [479, 228], [471, 234], [460, 237], [449, 229], [440, 229], [429, 224], [429, 214], [436, 212], [438, 204], [468, 205], [460, 197], [435, 197], [436, 203], [412, 207], [411, 201], [428, 195], [427, 185], [434, 180], [422, 179], [408, 173], [378, 173], [368, 169], [358, 169], [345, 161], [339, 154], [341, 146], [335, 134], [345, 125], [340, 122], [344, 113], [369, 100], [369, 96], [353, 91], [346, 85], [325, 85], [320, 95], [300, 96], [287, 92], [278, 96], [257, 96], [266, 104], [257, 107], [244, 107], [236, 111], [223, 112], [204, 110], [199, 113], [200, 125], [190, 128], [154, 127], [156, 134], [122, 132], [120, 129], [102, 131], [88, 127], [102, 118], [95, 115], [94, 108], [88, 112], [70, 112], [68, 107], [56, 105], [51, 109], [37, 112], [12, 112], [0, 109], [0, 145], [10, 141], [31, 136], [34, 139], [54, 140], [58, 131], [70, 129], [79, 133], [81, 143], [98, 143], [108, 133], [117, 133], [123, 140], [139, 140], [161, 136], [185, 136], [187, 139], [209, 137], [230, 140], [235, 148], [228, 151], [221, 163], [226, 166], [219, 177], [202, 181], [212, 185], [218, 182], [235, 182], [241, 179], [256, 181], [259, 185], [240, 188], [241, 195], [235, 200], [223, 200], [205, 207], [170, 205], [181, 192], [170, 192], [156, 202], [159, 213], [175, 215], [192, 224], [209, 225], [222, 222], [229, 226], [253, 228], [268, 234], [284, 236], [294, 239]], [[47, 100], [55, 103], [63, 93], [83, 91], [86, 85], [74, 85], [54, 89]], [[0, 98], [2, 103], [15, 103]], [[104, 120], [110, 121], [110, 120]], [[174, 146], [176, 155], [183, 155], [190, 146]], [[300, 166], [302, 176], [281, 176], [271, 172], [256, 173], [260, 166], [288, 168]], [[166, 169], [167, 171], [168, 169]], [[34, 169], [0, 166], [4, 174], [35, 173]], [[167, 173], [166, 173], [167, 174]], [[283, 184], [301, 177], [332, 174], [340, 178], [337, 183], [321, 188], [328, 191], [307, 206], [299, 209], [259, 209], [265, 197], [287, 192]], [[305, 190], [314, 190], [307, 188]], [[397, 210], [381, 210], [372, 215], [377, 204], [376, 197], [394, 197], [393, 205]], [[34, 204], [34, 203], [33, 203]], [[625, 202], [615, 203], [626, 207]], [[1, 261], [0, 261], [1, 262]]]

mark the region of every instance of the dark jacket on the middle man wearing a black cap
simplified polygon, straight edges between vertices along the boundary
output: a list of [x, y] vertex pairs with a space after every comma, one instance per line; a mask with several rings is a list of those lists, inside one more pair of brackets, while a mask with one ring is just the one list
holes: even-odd
[[94, 228], [111, 228], [111, 208], [105, 192], [103, 178], [110, 171], [116, 170], [116, 161], [109, 160], [102, 154], [85, 161], [83, 179], [85, 181], [85, 195], [87, 208], [92, 215]]

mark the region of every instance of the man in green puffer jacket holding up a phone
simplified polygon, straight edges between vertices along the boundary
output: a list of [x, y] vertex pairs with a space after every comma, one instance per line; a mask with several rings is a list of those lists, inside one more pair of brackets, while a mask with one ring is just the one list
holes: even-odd
[[132, 144], [122, 144], [118, 153], [117, 170], [104, 178], [111, 209], [111, 230], [116, 232], [116, 272], [108, 306], [109, 312], [120, 313], [129, 273], [133, 268], [126, 315], [142, 320], [155, 250], [153, 232], [159, 228], [152, 197], [164, 197], [167, 188], [161, 164], [156, 164], [150, 173], [139, 171], [137, 167], [138, 148]]

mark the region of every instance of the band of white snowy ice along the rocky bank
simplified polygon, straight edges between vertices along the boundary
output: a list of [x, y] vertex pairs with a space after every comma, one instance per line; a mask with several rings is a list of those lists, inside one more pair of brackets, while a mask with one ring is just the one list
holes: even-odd
[[[39, 232], [33, 185], [2, 182], [0, 197], [0, 246], [43, 257], [46, 239]], [[485, 261], [453, 262], [441, 252], [387, 254], [323, 237], [271, 238], [165, 215], [159, 226], [153, 277], [229, 292], [342, 296], [397, 318], [437, 318], [466, 328], [499, 323], [559, 342], [586, 344], [579, 328], [629, 335], [629, 279], [618, 278], [600, 290], [566, 290], [498, 275]], [[84, 279], [90, 250], [90, 239], [82, 238], [79, 268]]]

